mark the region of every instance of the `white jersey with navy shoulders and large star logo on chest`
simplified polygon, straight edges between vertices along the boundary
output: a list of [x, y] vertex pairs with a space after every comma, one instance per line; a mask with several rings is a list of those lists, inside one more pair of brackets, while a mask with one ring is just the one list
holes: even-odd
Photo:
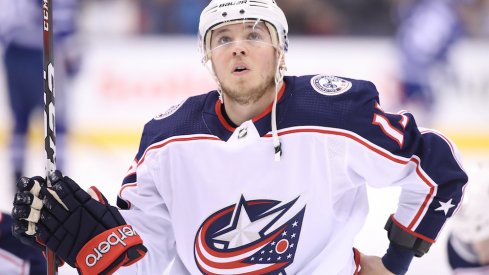
[[234, 128], [216, 91], [145, 126], [118, 205], [148, 253], [121, 274], [354, 274], [367, 185], [401, 186], [395, 220], [435, 241], [467, 182], [455, 146], [385, 113], [370, 82], [284, 82], [278, 162], [271, 106]]

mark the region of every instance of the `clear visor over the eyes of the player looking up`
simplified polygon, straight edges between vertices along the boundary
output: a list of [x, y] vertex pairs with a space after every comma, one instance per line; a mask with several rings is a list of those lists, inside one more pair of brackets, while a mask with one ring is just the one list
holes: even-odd
[[[273, 33], [273, 34], [272, 34]], [[267, 22], [255, 20], [240, 20], [226, 22], [211, 29], [206, 37], [206, 57], [241, 45], [253, 49], [260, 47], [277, 48], [274, 28]]]

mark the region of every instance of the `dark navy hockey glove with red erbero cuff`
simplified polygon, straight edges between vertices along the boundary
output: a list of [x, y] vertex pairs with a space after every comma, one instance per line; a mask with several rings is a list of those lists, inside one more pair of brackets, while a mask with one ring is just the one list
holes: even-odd
[[80, 274], [112, 274], [146, 254], [139, 235], [96, 188], [88, 194], [59, 171], [49, 177], [49, 188], [40, 177], [19, 181], [12, 210], [15, 236], [46, 245]]

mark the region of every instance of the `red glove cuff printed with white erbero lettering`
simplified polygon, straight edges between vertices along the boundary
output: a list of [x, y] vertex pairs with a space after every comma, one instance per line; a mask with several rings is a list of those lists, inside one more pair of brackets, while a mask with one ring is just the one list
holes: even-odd
[[[106, 230], [86, 243], [76, 256], [76, 267], [80, 274], [106, 273], [107, 268], [118, 261], [126, 251], [142, 245], [143, 240], [128, 224]], [[126, 265], [121, 262], [119, 266]], [[117, 268], [112, 268], [112, 272]]]

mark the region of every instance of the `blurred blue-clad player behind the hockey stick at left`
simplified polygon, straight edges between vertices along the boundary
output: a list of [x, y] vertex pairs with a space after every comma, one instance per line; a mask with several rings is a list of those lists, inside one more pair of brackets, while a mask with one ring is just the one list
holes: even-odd
[[[4, 65], [8, 99], [13, 116], [10, 157], [14, 177], [18, 179], [25, 166], [29, 121], [35, 110], [42, 110], [43, 51], [41, 0], [2, 1], [0, 41], [4, 47]], [[77, 0], [54, 0], [56, 130], [58, 164], [63, 167], [67, 131], [65, 81], [78, 69], [79, 54], [74, 45]], [[42, 117], [42, 113], [38, 114]]]

